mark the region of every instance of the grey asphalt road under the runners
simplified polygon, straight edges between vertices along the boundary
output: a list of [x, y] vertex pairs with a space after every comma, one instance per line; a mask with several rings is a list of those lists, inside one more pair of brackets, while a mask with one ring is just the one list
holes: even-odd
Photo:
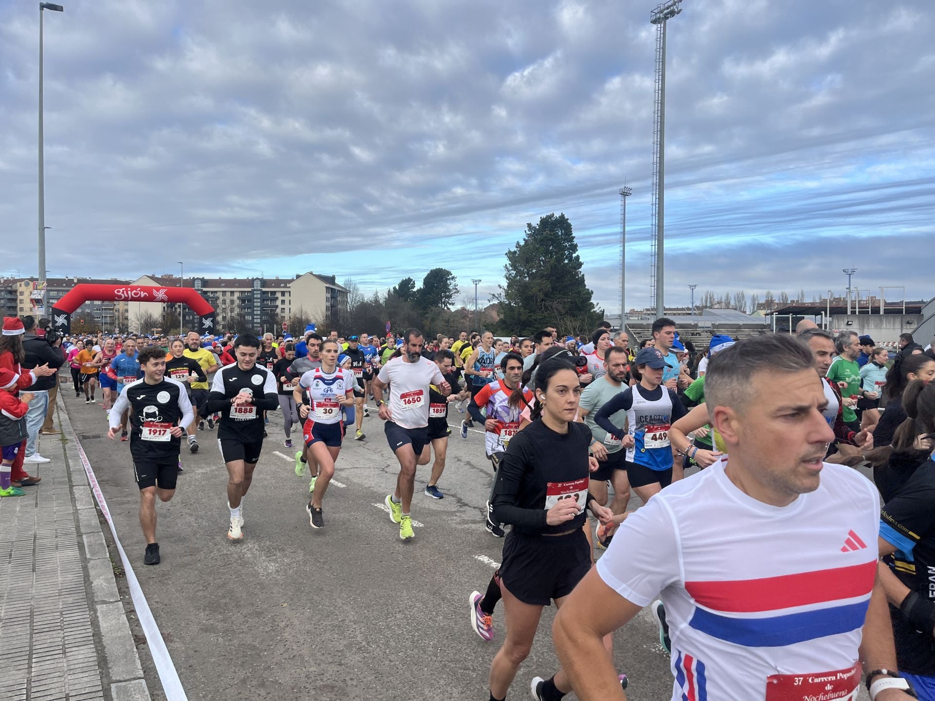
[[[484, 591], [503, 541], [482, 525], [492, 472], [479, 432], [463, 439], [453, 431], [439, 480], [444, 499], [422, 493], [429, 465], [419, 468], [412, 517], [423, 525], [403, 542], [382, 508], [398, 464], [376, 410], [364, 420], [365, 441], [345, 440], [335, 473], [344, 487], [332, 482], [317, 531], [305, 512], [308, 480], [295, 478], [295, 451], [283, 447], [281, 414], [272, 413], [240, 543], [226, 537], [227, 473], [216, 431], [199, 432], [201, 450], [183, 449], [175, 498], [158, 507], [162, 564], [144, 566], [129, 443], [107, 439], [100, 397], [85, 405], [63, 390], [189, 698], [487, 699], [503, 609], [495, 639], [484, 642], [470, 626], [468, 595]], [[453, 410], [451, 422], [462, 416]], [[510, 698], [528, 698], [529, 680], [554, 672], [553, 618], [546, 609]], [[669, 656], [648, 610], [617, 632], [614, 659], [629, 677], [628, 698], [669, 698]], [[144, 666], [154, 697], [162, 697], [152, 665]]]

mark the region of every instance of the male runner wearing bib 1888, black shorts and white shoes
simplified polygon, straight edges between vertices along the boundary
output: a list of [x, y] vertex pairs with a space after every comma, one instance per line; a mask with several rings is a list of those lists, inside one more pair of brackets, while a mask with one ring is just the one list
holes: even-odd
[[218, 445], [227, 466], [227, 508], [231, 512], [227, 537], [231, 540], [243, 538], [240, 500], [250, 489], [263, 449], [263, 412], [280, 406], [276, 379], [266, 367], [256, 365], [259, 354], [259, 338], [237, 336], [237, 363], [215, 373], [208, 395], [209, 411], [221, 414]]

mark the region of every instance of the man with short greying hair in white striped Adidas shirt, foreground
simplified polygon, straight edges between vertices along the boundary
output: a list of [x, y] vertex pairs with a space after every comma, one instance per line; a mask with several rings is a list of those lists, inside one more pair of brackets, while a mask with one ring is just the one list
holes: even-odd
[[[897, 676], [880, 496], [822, 462], [834, 434], [812, 353], [786, 334], [743, 340], [712, 356], [705, 395], [729, 461], [630, 514], [555, 617], [578, 698], [623, 698], [601, 638], [660, 593], [673, 701], [856, 698], [860, 662], [868, 682]], [[877, 701], [909, 698], [894, 688]]]

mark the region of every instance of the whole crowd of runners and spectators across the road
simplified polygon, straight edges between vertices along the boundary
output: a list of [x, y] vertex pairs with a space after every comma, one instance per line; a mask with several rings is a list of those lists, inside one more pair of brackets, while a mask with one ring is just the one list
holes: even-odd
[[[265, 440], [296, 449], [322, 529], [345, 436], [381, 425], [398, 462], [384, 503], [409, 541], [417, 468], [432, 464], [424, 494], [444, 498], [448, 442], [478, 426], [491, 464], [478, 527], [504, 538], [502, 563], [468, 595], [478, 636], [503, 629], [491, 701], [553, 603], [561, 668], [531, 680], [541, 701], [625, 698], [612, 634], [647, 607], [673, 699], [855, 699], [862, 681], [873, 701], [935, 699], [935, 350], [911, 337], [890, 357], [812, 322], [712, 336], [698, 352], [666, 318], [632, 347], [607, 323], [588, 338], [547, 327], [510, 339], [60, 339], [46, 326], [7, 319], [0, 337], [0, 495], [38, 480], [23, 469], [48, 460], [33, 409], [44, 421], [67, 365], [67, 401], [96, 404], [99, 388], [108, 436], [129, 441], [146, 565], [160, 562], [156, 499], [175, 494], [199, 436], [216, 433], [226, 536], [239, 541]], [[270, 436], [277, 410], [283, 435]]]

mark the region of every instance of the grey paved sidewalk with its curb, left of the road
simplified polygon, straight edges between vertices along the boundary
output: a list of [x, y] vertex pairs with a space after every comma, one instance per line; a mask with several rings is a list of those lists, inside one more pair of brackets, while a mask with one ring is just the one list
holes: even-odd
[[94, 497], [65, 413], [42, 481], [0, 499], [0, 699], [148, 701]]

